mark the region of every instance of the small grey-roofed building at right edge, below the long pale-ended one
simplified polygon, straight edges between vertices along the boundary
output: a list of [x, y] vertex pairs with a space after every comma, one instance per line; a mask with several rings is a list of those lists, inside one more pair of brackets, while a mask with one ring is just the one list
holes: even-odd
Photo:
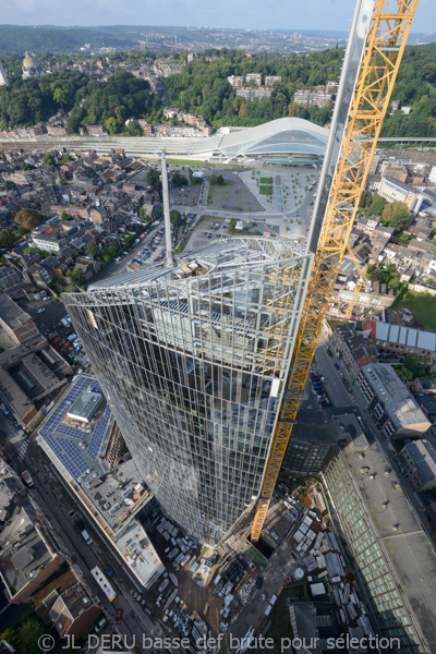
[[425, 438], [407, 443], [398, 455], [404, 479], [416, 492], [436, 486], [436, 437], [428, 432]]

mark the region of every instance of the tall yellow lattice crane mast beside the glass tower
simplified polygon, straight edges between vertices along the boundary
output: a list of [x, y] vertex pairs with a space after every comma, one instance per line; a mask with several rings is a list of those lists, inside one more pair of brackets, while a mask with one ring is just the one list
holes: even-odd
[[[393, 11], [389, 11], [388, 4], [395, 5]], [[251, 534], [254, 543], [261, 536], [283, 461], [416, 4], [417, 0], [375, 0], [373, 4], [286, 390], [257, 500]], [[354, 35], [355, 38], [358, 36]]]

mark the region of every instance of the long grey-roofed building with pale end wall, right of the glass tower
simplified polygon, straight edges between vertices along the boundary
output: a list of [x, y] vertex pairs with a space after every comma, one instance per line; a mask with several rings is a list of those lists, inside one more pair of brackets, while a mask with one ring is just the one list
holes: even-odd
[[388, 363], [363, 366], [356, 386], [386, 440], [392, 437], [416, 437], [431, 426], [424, 412]]

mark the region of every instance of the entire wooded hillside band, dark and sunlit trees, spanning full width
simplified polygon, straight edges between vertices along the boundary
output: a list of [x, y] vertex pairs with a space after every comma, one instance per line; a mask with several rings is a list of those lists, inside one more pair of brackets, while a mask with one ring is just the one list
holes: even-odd
[[[156, 58], [156, 52], [153, 53]], [[185, 55], [179, 55], [181, 61]], [[62, 56], [59, 56], [62, 59]], [[68, 64], [84, 59], [69, 58]], [[332, 102], [324, 108], [308, 109], [295, 105], [299, 88], [312, 88], [327, 82], [337, 82], [343, 50], [336, 48], [306, 56], [262, 53], [250, 59], [240, 50], [206, 50], [183, 66], [182, 72], [162, 80], [166, 86], [165, 104], [201, 113], [214, 129], [222, 125], [252, 126], [293, 116], [317, 124], [328, 123]], [[142, 65], [147, 53], [133, 52], [109, 56], [112, 66], [122, 61]], [[92, 80], [86, 73], [63, 70], [40, 80], [21, 78], [21, 59], [4, 59], [10, 75], [8, 86], [0, 87], [0, 129], [36, 124], [47, 120], [58, 109], [71, 112], [70, 133], [84, 123], [101, 123], [111, 133], [141, 133], [137, 123], [124, 126], [128, 119], [144, 118], [161, 122], [160, 98], [149, 92], [148, 82], [126, 72], [114, 73], [108, 82]], [[51, 64], [52, 65], [52, 64]], [[279, 75], [274, 96], [253, 102], [237, 96], [227, 82], [229, 75], [247, 73]], [[410, 107], [409, 116], [400, 110], [385, 121], [385, 136], [436, 136], [436, 43], [405, 49], [392, 99]]]

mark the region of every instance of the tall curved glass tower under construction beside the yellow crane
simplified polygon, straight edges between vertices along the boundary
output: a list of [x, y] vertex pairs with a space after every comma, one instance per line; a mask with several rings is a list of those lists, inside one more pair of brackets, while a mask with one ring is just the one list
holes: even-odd
[[311, 267], [226, 239], [62, 296], [144, 480], [203, 543], [259, 493]]

